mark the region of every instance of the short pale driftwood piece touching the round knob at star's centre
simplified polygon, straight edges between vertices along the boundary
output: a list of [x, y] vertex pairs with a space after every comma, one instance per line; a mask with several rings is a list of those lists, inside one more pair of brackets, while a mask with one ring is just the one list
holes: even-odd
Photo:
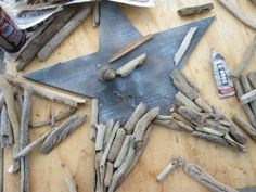
[[145, 61], [145, 53], [135, 57], [133, 60], [126, 63], [120, 68], [117, 68], [116, 75], [120, 75], [121, 77], [128, 76], [131, 74], [133, 69], [136, 69], [136, 67], [138, 67], [139, 65], [142, 65], [144, 61]]

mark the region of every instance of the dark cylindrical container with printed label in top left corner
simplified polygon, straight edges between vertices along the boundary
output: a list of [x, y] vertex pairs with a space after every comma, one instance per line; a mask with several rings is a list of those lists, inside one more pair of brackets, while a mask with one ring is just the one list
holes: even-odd
[[9, 52], [18, 52], [26, 42], [26, 35], [0, 7], [0, 47]]

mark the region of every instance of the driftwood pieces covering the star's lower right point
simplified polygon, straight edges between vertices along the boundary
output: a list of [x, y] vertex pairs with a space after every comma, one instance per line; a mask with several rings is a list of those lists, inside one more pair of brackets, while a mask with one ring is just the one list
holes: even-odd
[[179, 90], [175, 95], [175, 107], [171, 116], [158, 116], [154, 123], [245, 152], [246, 138], [200, 95], [200, 89], [179, 71], [172, 71], [170, 76]]

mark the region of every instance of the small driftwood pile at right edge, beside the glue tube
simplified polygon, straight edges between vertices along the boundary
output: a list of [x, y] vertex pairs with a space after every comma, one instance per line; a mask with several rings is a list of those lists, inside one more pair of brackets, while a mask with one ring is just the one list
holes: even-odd
[[256, 141], [256, 72], [242, 75], [235, 80], [234, 86], [248, 121], [240, 114], [233, 116], [233, 121]]

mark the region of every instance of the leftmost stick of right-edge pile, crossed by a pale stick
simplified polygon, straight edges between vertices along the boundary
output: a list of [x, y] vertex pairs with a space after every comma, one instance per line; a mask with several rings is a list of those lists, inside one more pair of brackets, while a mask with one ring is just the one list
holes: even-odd
[[[243, 91], [243, 88], [242, 88], [242, 85], [241, 85], [240, 80], [235, 80], [234, 87], [235, 87], [238, 98], [241, 98], [244, 94], [244, 91]], [[249, 105], [248, 104], [243, 104], [242, 107], [243, 107], [248, 120], [251, 121], [251, 124], [254, 127], [256, 127], [256, 120], [254, 118], [254, 113], [251, 110]]]

